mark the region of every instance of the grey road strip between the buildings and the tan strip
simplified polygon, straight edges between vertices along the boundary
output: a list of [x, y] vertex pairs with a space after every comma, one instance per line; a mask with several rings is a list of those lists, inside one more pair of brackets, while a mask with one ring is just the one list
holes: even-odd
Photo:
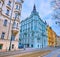
[[34, 49], [34, 48], [26, 48], [25, 50], [17, 50], [17, 51], [10, 51], [10, 52], [0, 52], [0, 57], [7, 57], [7, 56], [13, 56], [13, 55], [23, 55], [27, 53], [32, 52], [40, 52], [40, 51], [46, 51], [46, 50], [55, 50], [56, 48], [43, 48], [43, 49]]

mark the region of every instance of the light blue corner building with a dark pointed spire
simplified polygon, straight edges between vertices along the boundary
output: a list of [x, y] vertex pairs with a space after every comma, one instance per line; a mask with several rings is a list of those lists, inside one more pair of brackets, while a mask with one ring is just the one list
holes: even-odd
[[43, 48], [47, 46], [47, 25], [43, 22], [34, 5], [31, 15], [21, 21], [20, 42], [25, 48]]

